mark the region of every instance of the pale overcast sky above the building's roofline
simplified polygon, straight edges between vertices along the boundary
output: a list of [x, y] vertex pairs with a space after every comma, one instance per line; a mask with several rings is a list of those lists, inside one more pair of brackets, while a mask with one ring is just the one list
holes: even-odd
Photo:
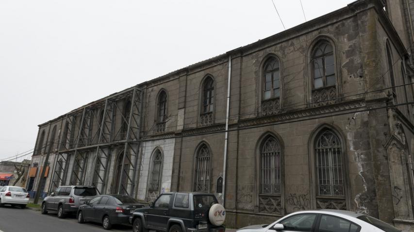
[[[305, 22], [274, 2], [286, 29]], [[302, 0], [307, 20], [350, 2]], [[38, 124], [283, 30], [271, 0], [1, 0], [0, 160]]]

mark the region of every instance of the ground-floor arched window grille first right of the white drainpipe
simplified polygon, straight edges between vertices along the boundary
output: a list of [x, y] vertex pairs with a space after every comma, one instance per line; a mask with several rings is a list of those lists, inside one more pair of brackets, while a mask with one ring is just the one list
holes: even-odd
[[261, 193], [281, 193], [281, 146], [269, 136], [262, 146], [261, 156]]

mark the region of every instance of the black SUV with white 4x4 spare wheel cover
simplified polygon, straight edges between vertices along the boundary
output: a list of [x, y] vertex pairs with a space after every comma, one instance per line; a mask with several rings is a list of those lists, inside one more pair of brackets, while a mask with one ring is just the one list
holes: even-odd
[[214, 194], [169, 192], [129, 218], [133, 232], [225, 232], [226, 212]]

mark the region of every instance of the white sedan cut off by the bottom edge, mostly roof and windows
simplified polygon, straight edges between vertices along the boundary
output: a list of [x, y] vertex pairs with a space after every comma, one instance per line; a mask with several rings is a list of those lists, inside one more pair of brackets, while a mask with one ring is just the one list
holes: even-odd
[[377, 218], [345, 210], [307, 210], [268, 225], [247, 226], [237, 232], [401, 232]]

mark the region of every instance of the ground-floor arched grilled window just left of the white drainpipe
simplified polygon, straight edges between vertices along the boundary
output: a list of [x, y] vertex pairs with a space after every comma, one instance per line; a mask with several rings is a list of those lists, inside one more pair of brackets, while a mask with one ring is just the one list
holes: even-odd
[[194, 191], [196, 192], [208, 192], [210, 190], [210, 157], [210, 148], [206, 144], [200, 145], [195, 162]]

